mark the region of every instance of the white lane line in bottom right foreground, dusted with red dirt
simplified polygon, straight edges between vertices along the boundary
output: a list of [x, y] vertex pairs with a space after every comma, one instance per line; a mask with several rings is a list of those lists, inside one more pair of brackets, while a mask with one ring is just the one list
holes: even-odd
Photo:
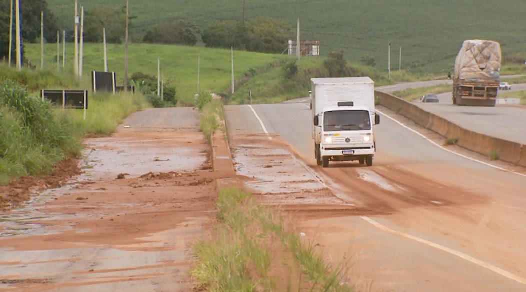
[[360, 216], [360, 218], [362, 218], [363, 220], [366, 220], [368, 223], [370, 223], [371, 225], [377, 227], [378, 229], [382, 230], [382, 231], [386, 231], [387, 233], [391, 233], [391, 234], [394, 234], [394, 235], [398, 235], [398, 236], [401, 236], [401, 237], [405, 237], [405, 238], [409, 238], [411, 240], [414, 240], [414, 241], [417, 241], [421, 244], [425, 244], [427, 246], [430, 246], [430, 247], [434, 247], [434, 248], [437, 248], [437, 249], [440, 249], [442, 251], [446, 251], [446, 253], [449, 253], [449, 254], [452, 254], [454, 256], [458, 256], [459, 258], [461, 259], [464, 259], [464, 260], [467, 260], [473, 264], [476, 264], [478, 266], [481, 266], [483, 268], [486, 268], [494, 273], [497, 273], [503, 277], [506, 277], [510, 280], [514, 280], [522, 285], [526, 285], [526, 279], [524, 278], [521, 278], [521, 277], [518, 277], [518, 276], [515, 276], [513, 274], [511, 274], [509, 271], [506, 271], [506, 270], [503, 270], [501, 268], [498, 268], [498, 267], [495, 267], [491, 264], [488, 264], [488, 263], [485, 263], [484, 261], [482, 260], [479, 260], [479, 259], [476, 259], [472, 256], [468, 256], [466, 254], [463, 254], [463, 253], [460, 253], [460, 251], [456, 251], [456, 250], [453, 250], [451, 248], [447, 248], [445, 246], [441, 246], [441, 245], [438, 245], [436, 243], [432, 243], [431, 241], [428, 241], [428, 240], [425, 240], [425, 239], [422, 239], [422, 238], [418, 238], [416, 236], [412, 236], [412, 235], [409, 235], [409, 234], [405, 234], [405, 233], [401, 233], [399, 231], [395, 231], [395, 230], [392, 230], [392, 229], [389, 229], [383, 225], [381, 225], [380, 223], [378, 223], [377, 221], [369, 218], [369, 217], [365, 217], [365, 216]]

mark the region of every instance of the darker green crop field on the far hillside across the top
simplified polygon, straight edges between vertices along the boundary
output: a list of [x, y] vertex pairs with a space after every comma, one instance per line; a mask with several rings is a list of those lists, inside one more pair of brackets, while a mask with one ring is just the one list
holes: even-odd
[[[66, 19], [73, 24], [73, 0], [47, 2], [59, 24]], [[526, 57], [524, 3], [517, 0], [130, 0], [130, 14], [136, 16], [131, 33], [142, 37], [154, 23], [172, 19], [188, 19], [201, 27], [217, 19], [241, 21], [244, 2], [246, 19], [272, 16], [295, 28], [299, 17], [301, 38], [320, 39], [322, 55], [342, 49], [350, 62], [358, 63], [370, 54], [382, 71], [387, 71], [389, 43], [391, 69], [399, 68], [402, 47], [401, 67], [417, 73], [447, 73], [465, 39], [494, 39], [501, 42], [504, 58], [518, 53]], [[126, 1], [79, 1], [85, 9], [103, 3], [122, 7]]]

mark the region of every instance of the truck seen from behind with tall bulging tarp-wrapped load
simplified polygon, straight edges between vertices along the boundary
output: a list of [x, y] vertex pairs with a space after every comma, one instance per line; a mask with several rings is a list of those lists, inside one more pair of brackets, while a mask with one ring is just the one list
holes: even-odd
[[453, 104], [495, 106], [500, 84], [500, 43], [468, 39], [455, 60]]

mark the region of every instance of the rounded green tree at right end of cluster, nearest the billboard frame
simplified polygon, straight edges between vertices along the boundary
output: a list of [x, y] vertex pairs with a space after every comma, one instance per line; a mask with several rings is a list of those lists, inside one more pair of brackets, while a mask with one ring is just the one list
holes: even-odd
[[268, 16], [258, 16], [247, 24], [246, 49], [262, 53], [281, 53], [287, 48], [291, 26]]

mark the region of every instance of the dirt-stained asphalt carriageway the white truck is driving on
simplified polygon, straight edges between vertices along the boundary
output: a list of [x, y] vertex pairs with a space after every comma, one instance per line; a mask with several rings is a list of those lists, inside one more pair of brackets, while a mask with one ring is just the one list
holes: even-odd
[[252, 108], [261, 122], [249, 106], [227, 107], [229, 131], [281, 137], [335, 196], [371, 210], [304, 227], [331, 257], [353, 253], [356, 270], [380, 291], [526, 290], [526, 176], [450, 153], [385, 115], [372, 167], [323, 169], [313, 157], [308, 103]]

